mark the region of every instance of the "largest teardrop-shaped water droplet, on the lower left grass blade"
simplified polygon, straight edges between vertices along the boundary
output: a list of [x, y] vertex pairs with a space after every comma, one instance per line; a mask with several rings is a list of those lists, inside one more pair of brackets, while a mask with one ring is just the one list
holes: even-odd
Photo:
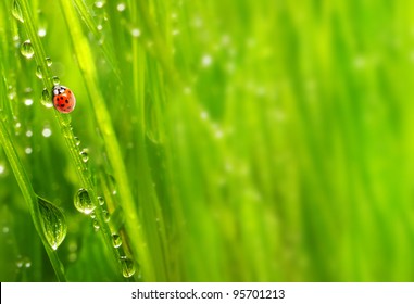
[[66, 237], [67, 226], [63, 213], [48, 201], [37, 198], [39, 203], [41, 226], [45, 237], [53, 250], [63, 242]]

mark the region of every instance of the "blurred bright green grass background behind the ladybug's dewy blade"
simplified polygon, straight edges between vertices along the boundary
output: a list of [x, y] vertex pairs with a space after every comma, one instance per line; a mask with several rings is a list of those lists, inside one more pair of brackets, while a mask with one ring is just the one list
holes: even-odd
[[[65, 214], [67, 280], [414, 280], [413, 1], [24, 2], [24, 23], [0, 4], [1, 119]], [[52, 60], [42, 79], [27, 24]], [[73, 205], [85, 186], [40, 101], [50, 76], [77, 98], [129, 278]], [[57, 280], [1, 148], [0, 244], [1, 281]]]

